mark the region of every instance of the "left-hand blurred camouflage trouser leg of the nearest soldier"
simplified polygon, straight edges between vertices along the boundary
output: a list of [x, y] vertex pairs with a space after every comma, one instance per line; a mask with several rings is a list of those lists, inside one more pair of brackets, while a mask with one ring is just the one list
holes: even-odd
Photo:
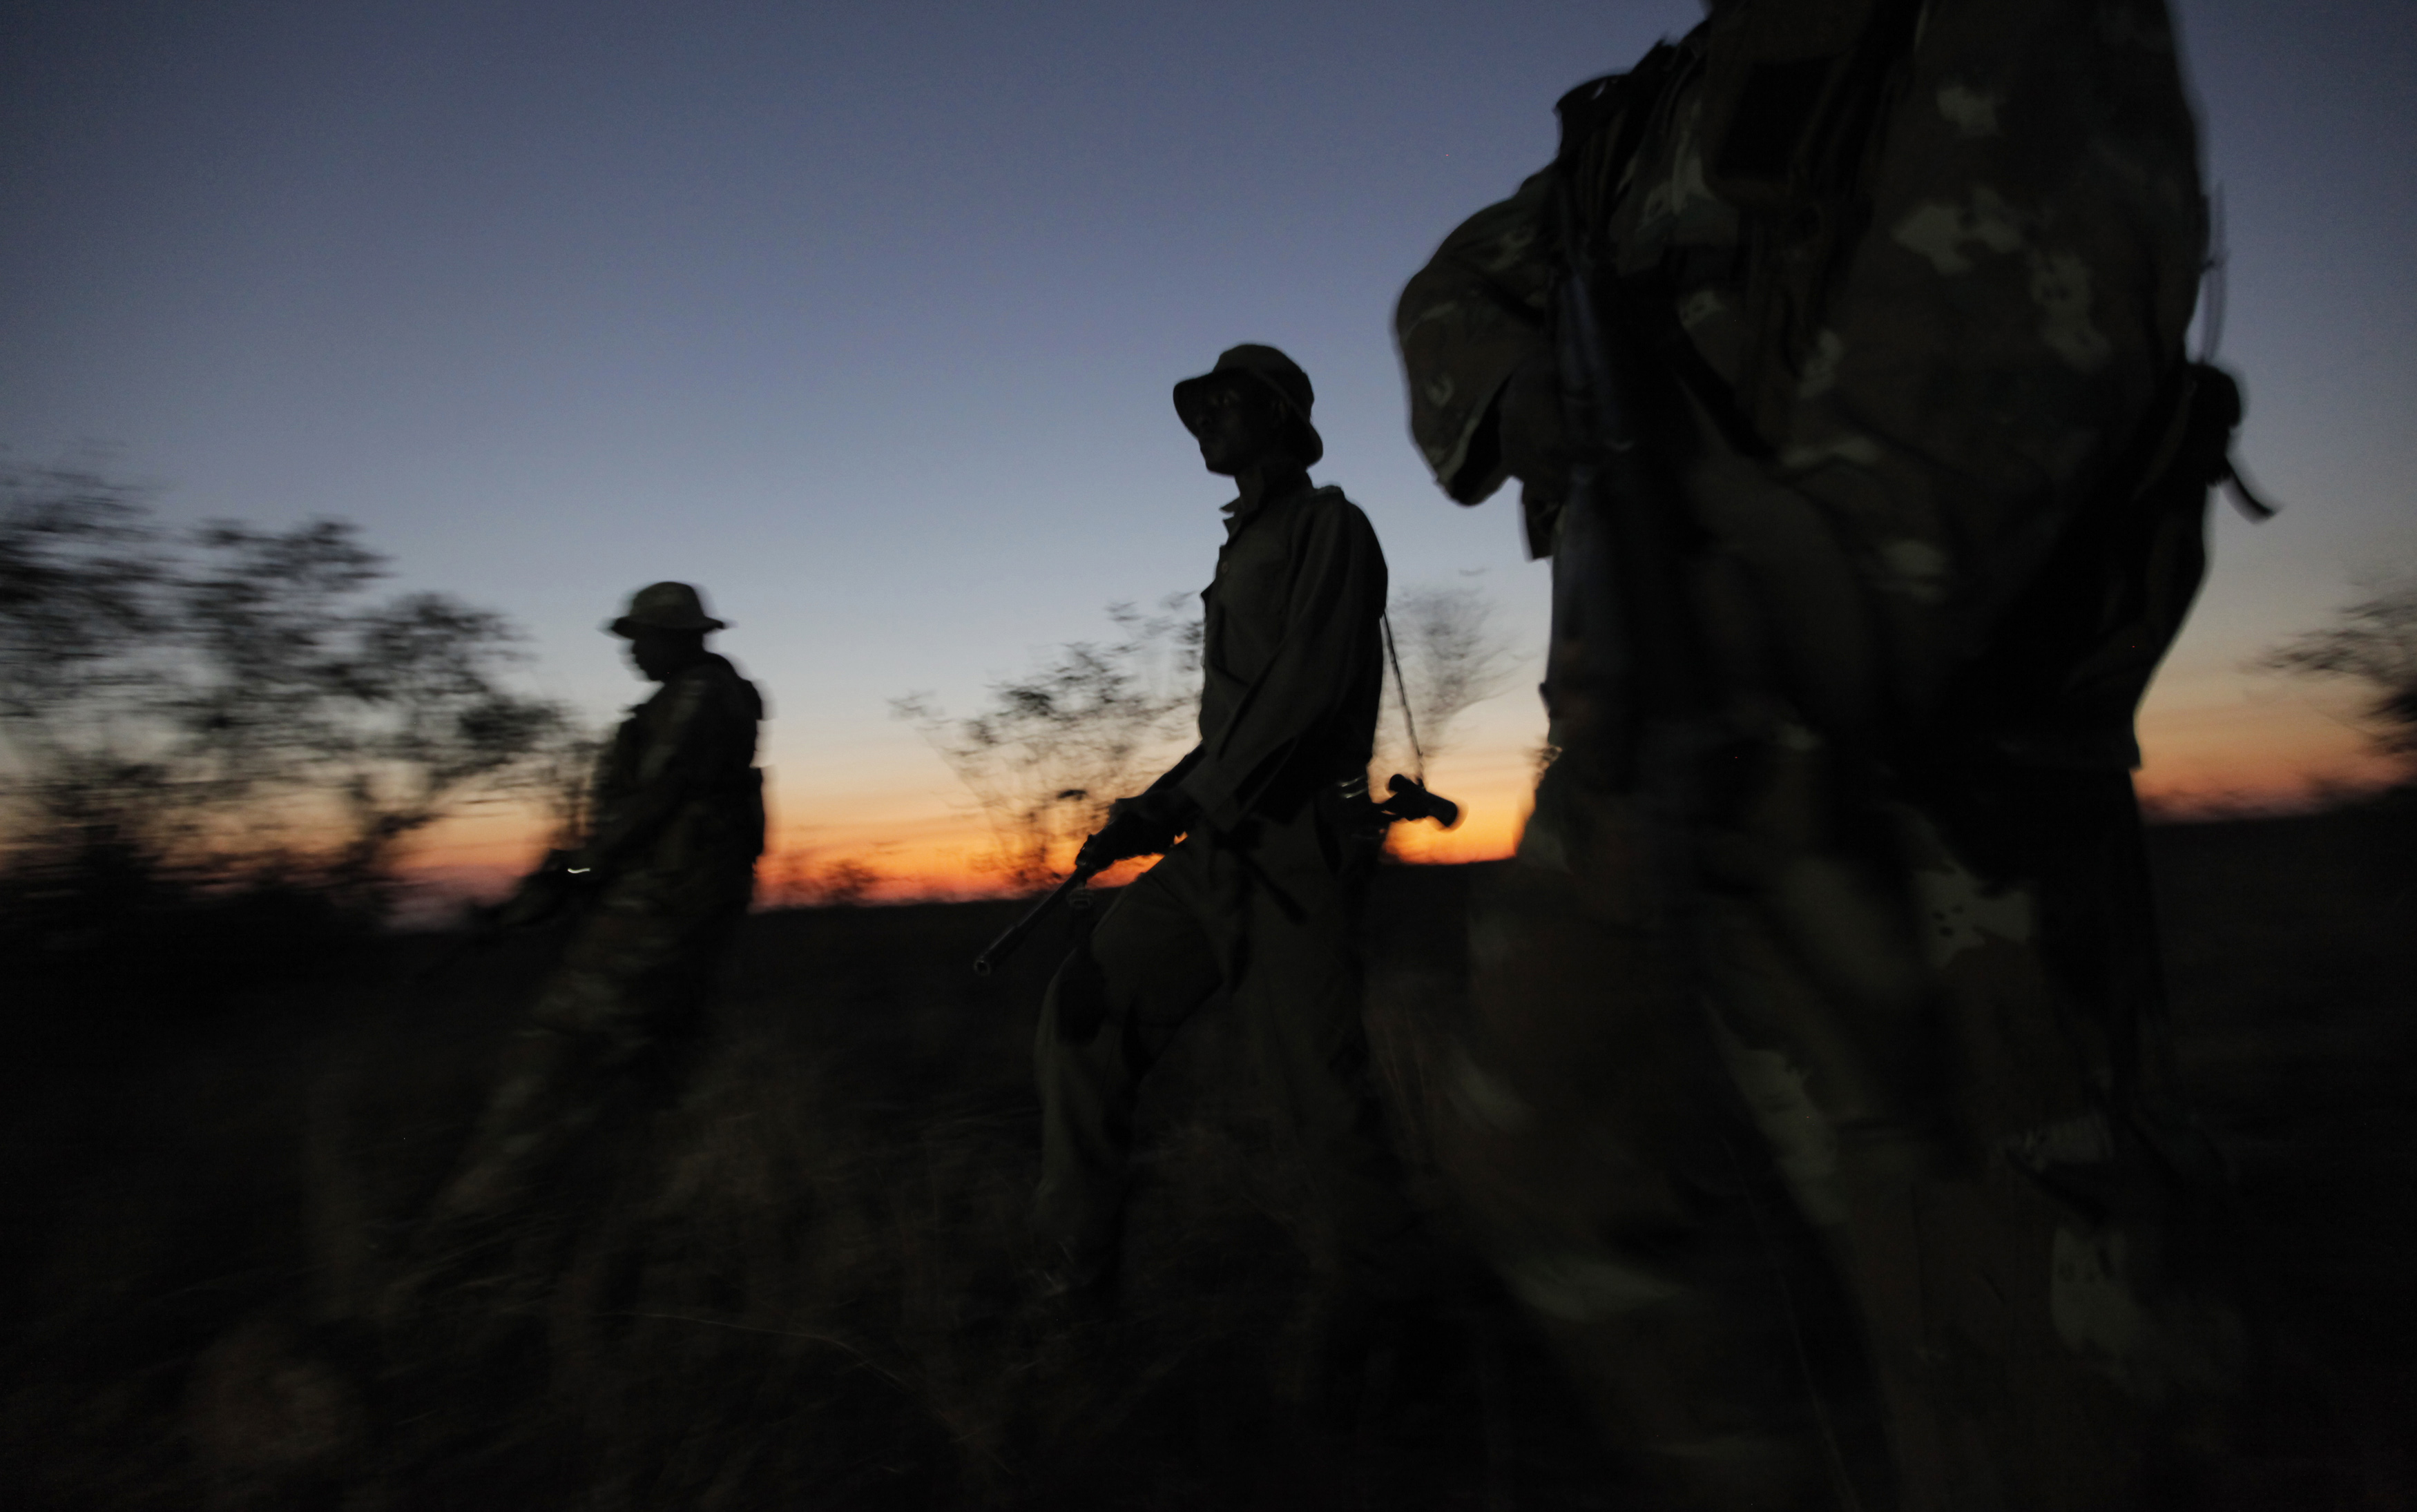
[[1726, 1084], [1644, 836], [1547, 787], [1472, 918], [1445, 1174], [1665, 1505], [1873, 1505], [1847, 1307]]

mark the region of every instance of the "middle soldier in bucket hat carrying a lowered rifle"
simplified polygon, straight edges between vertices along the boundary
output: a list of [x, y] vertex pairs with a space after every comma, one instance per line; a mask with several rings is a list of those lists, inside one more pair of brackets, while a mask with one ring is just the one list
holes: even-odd
[[[1383, 819], [1368, 802], [1385, 553], [1358, 505], [1310, 483], [1325, 442], [1291, 357], [1238, 345], [1175, 384], [1211, 473], [1240, 488], [1201, 594], [1201, 739], [1117, 799], [1085, 867], [1165, 853], [1049, 983], [1034, 1070], [1047, 1285], [1114, 1283], [1134, 1094], [1221, 985], [1310, 1167], [1349, 1292], [1397, 1278], [1416, 1234], [1368, 1082], [1358, 918]], [[1182, 836], [1177, 841], [1177, 836]]]

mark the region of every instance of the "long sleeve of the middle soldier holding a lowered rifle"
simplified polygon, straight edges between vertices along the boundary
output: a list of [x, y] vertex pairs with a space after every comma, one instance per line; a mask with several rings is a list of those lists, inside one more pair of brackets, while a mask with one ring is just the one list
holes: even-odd
[[1385, 611], [1385, 553], [1358, 505], [1322, 500], [1293, 548], [1300, 568], [1283, 611], [1283, 642], [1225, 729], [1201, 742], [1199, 761], [1179, 783], [1218, 828], [1242, 819], [1293, 744], [1349, 696]]

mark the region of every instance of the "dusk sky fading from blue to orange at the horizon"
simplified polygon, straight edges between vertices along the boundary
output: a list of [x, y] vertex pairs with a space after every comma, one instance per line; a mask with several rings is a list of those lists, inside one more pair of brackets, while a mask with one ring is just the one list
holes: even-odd
[[[2417, 7], [2185, 0], [2221, 186], [2241, 454], [2144, 715], [2151, 792], [2364, 766], [2347, 700], [2248, 674], [2417, 568]], [[1320, 481], [1397, 587], [1474, 585], [1523, 655], [1518, 510], [1457, 510], [1387, 319], [1554, 145], [1552, 101], [1694, 0], [17, 5], [0, 19], [0, 444], [111, 449], [176, 522], [360, 522], [394, 587], [532, 633], [609, 717], [597, 633], [703, 585], [771, 696], [778, 819], [945, 879], [957, 713], [1102, 606], [1196, 589], [1216, 505], [1167, 386], [1238, 341], [1317, 382]], [[1532, 657], [1530, 657], [1532, 659]], [[1438, 787], [1508, 843], [1532, 667]], [[435, 860], [527, 860], [505, 833]]]

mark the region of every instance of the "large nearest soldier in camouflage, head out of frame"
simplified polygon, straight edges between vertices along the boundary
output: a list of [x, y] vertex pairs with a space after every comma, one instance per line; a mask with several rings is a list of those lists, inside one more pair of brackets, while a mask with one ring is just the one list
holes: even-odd
[[1670, 1505], [2154, 1505], [2238, 1355], [2129, 783], [2238, 423], [2166, 10], [1723, 2], [1559, 114], [1397, 312], [1554, 558], [1455, 1184]]

